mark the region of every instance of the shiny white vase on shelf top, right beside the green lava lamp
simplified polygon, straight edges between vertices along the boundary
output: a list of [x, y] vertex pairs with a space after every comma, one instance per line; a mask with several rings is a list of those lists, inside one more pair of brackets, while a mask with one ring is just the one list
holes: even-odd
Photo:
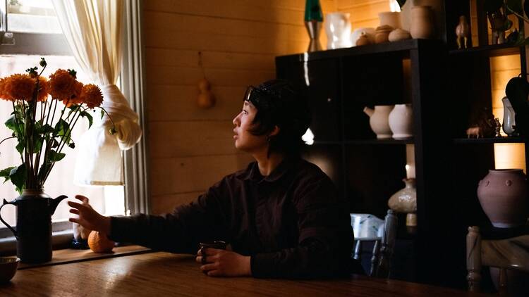
[[352, 46], [349, 15], [349, 13], [327, 13], [325, 15], [327, 49], [341, 49]]

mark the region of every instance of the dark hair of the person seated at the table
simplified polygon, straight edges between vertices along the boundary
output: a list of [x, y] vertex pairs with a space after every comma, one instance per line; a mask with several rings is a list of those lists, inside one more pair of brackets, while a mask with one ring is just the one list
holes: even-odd
[[305, 146], [301, 139], [310, 126], [308, 100], [286, 80], [268, 80], [258, 87], [248, 87], [244, 98], [257, 113], [250, 133], [264, 135], [279, 127], [279, 133], [269, 138], [270, 153], [299, 155]]

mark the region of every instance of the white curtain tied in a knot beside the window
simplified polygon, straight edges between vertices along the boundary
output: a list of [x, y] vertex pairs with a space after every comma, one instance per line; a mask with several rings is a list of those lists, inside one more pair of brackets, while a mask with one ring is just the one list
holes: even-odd
[[138, 114], [116, 87], [123, 48], [123, 0], [53, 0], [59, 23], [73, 56], [101, 87], [102, 107], [114, 121], [93, 113], [94, 125], [77, 141], [76, 184], [123, 184], [121, 150], [132, 148], [142, 135]]

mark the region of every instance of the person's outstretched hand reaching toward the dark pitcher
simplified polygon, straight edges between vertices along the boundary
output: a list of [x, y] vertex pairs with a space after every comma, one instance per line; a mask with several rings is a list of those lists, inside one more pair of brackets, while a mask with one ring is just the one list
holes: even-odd
[[90, 206], [88, 198], [85, 196], [75, 195], [75, 198], [81, 201], [81, 203], [68, 201], [68, 206], [71, 207], [70, 213], [78, 215], [79, 217], [70, 217], [70, 222], [76, 222], [90, 230], [110, 234], [110, 217], [99, 215], [99, 213]]

